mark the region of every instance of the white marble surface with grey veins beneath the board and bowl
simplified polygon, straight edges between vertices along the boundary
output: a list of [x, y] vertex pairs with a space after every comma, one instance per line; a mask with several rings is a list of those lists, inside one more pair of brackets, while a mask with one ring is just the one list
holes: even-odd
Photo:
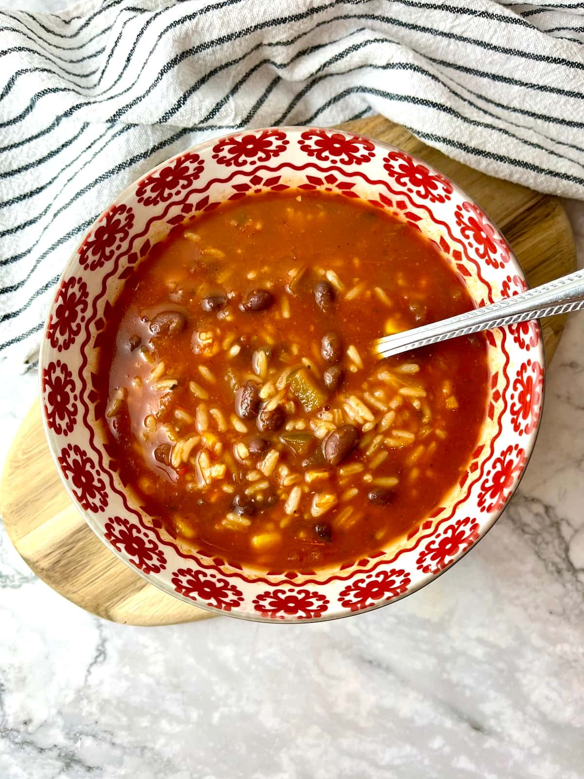
[[[567, 207], [582, 265], [584, 204]], [[2, 372], [0, 459], [36, 390]], [[113, 625], [37, 580], [0, 529], [0, 779], [582, 779], [582, 505], [584, 314], [511, 506], [389, 608]]]

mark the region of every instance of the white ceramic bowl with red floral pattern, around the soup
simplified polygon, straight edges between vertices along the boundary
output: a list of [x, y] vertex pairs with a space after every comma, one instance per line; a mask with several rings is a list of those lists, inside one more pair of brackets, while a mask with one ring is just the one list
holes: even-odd
[[258, 572], [155, 527], [121, 483], [100, 423], [93, 383], [112, 302], [174, 225], [225, 200], [290, 188], [361, 198], [406, 221], [442, 252], [476, 305], [527, 286], [505, 238], [454, 182], [402, 150], [330, 129], [259, 129], [202, 143], [142, 176], [90, 227], [59, 281], [40, 363], [44, 428], [65, 488], [97, 537], [150, 583], [200, 608], [267, 622], [367, 612], [452, 566], [519, 484], [544, 395], [539, 324], [488, 332], [487, 411], [466, 473], [405, 538], [336, 569]]

